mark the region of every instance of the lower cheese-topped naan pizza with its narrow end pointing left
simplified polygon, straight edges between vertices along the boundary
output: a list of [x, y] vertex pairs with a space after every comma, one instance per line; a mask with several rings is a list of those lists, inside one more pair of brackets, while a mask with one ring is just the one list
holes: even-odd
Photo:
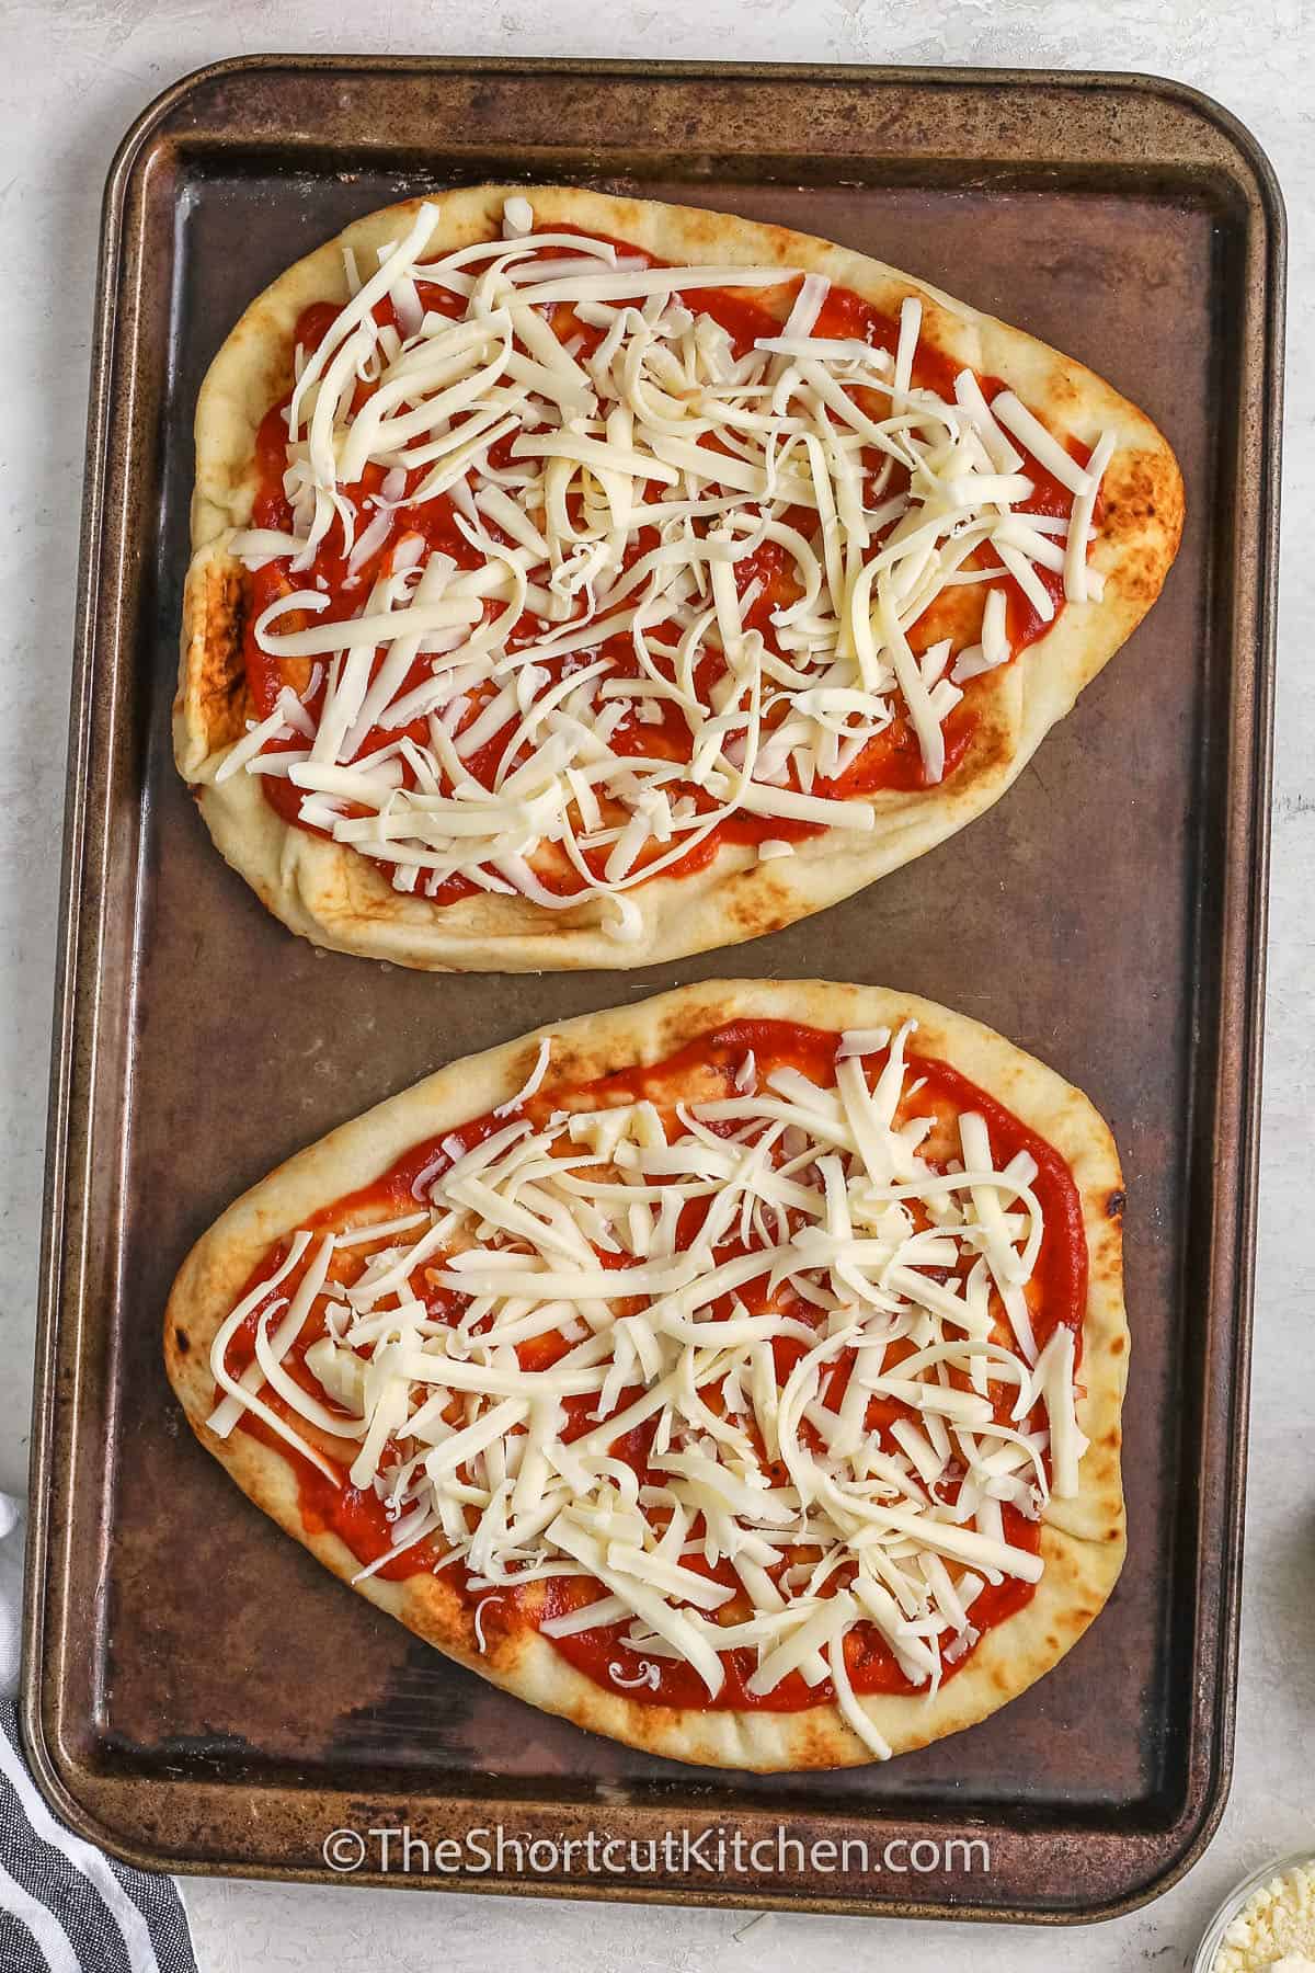
[[166, 1359], [266, 1513], [509, 1693], [684, 1762], [883, 1760], [1114, 1586], [1122, 1206], [1086, 1097], [988, 1028], [688, 986], [292, 1158]]

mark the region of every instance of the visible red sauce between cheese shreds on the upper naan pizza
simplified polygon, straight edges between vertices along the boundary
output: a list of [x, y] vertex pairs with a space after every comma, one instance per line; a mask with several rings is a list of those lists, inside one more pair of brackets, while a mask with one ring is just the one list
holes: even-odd
[[[578, 231], [554, 227], [554, 231]], [[597, 239], [599, 235], [589, 235]], [[627, 241], [611, 241], [621, 253], [643, 260], [647, 266], [668, 264], [660, 262], [655, 255], [647, 255]], [[542, 253], [550, 253], [542, 249]], [[465, 300], [440, 288], [432, 282], [418, 284], [420, 302], [426, 310], [438, 314], [459, 316], [465, 310]], [[716, 288], [700, 288], [682, 296], [684, 304], [696, 314], [708, 314], [726, 328], [733, 339], [735, 353], [743, 355], [755, 339], [765, 335], [777, 335], [781, 331], [781, 322], [777, 316], [767, 314], [759, 304], [745, 298], [743, 292], [731, 294]], [[333, 302], [313, 302], [306, 308], [294, 329], [294, 345], [311, 351], [317, 347], [325, 331], [333, 326], [339, 314], [339, 306]], [[560, 320], [558, 320], [560, 318]], [[375, 320], [381, 326], [396, 328], [396, 312], [392, 302], [386, 298], [377, 304]], [[562, 339], [572, 337], [580, 341], [580, 353], [589, 355], [593, 347], [601, 341], [603, 331], [580, 322], [566, 304], [558, 304], [554, 314], [554, 328]], [[864, 302], [862, 296], [848, 288], [832, 288], [818, 324], [814, 328], [816, 335], [826, 337], [858, 337], [871, 347], [895, 351], [899, 341], [899, 324], [887, 316], [883, 310], [875, 308], [871, 302]], [[927, 337], [919, 341], [915, 363], [913, 363], [913, 383], [936, 391], [940, 397], [954, 399], [954, 377], [962, 369], [960, 363], [950, 361], [940, 349], [934, 347]], [[982, 393], [988, 402], [1005, 389], [1000, 377], [980, 377]], [[357, 387], [357, 408], [369, 399], [371, 385]], [[862, 393], [860, 393], [862, 395]], [[284, 493], [284, 470], [286, 470], [286, 440], [288, 426], [284, 412], [288, 408], [288, 399], [270, 406], [264, 422], [260, 424], [256, 436], [256, 477], [258, 491], [252, 509], [252, 527], [266, 527], [278, 531], [290, 531], [292, 527], [292, 507]], [[507, 466], [511, 462], [511, 448], [515, 442], [515, 432], [499, 440], [491, 452], [489, 460], [493, 466]], [[1086, 464], [1090, 452], [1076, 442], [1069, 444], [1074, 460]], [[875, 474], [881, 460], [875, 452], [864, 454], [864, 464], [869, 474]], [[420, 481], [426, 477], [428, 468], [412, 468], [406, 475], [406, 493], [412, 493]], [[1021, 472], [1033, 481], [1033, 493], [1027, 503], [1017, 505], [1013, 511], [1027, 515], [1067, 515], [1073, 503], [1073, 495], [1055, 479], [1055, 475], [1035, 458], [1025, 456]], [[897, 468], [887, 495], [899, 491], [901, 479], [907, 475], [903, 468]], [[379, 493], [382, 483], [382, 470], [379, 466], [367, 466], [361, 481], [343, 487], [343, 493], [355, 503], [361, 513], [361, 525], [369, 517], [369, 509], [363, 505], [369, 497]], [[653, 487], [649, 489], [653, 493]], [[1096, 503], [1096, 517], [1100, 517], [1100, 501]], [[812, 519], [804, 509], [791, 509], [785, 521], [795, 527], [810, 529]], [[485, 525], [493, 539], [509, 541], [503, 531], [485, 519]], [[893, 525], [893, 523], [891, 523]], [[278, 560], [266, 562], [248, 574], [248, 608], [244, 620], [244, 663], [246, 681], [250, 687], [250, 698], [256, 718], [266, 718], [278, 700], [282, 687], [290, 685], [298, 693], [306, 693], [313, 673], [310, 659], [278, 659], [264, 653], [254, 637], [256, 618], [280, 596], [290, 594], [296, 588], [317, 588], [327, 594], [329, 602], [323, 612], [319, 612], [313, 621], [317, 625], [343, 621], [357, 614], [361, 602], [369, 596], [371, 586], [392, 566], [392, 548], [402, 535], [422, 535], [432, 550], [442, 550], [450, 554], [459, 566], [475, 568], [481, 566], [483, 556], [471, 543], [461, 535], [455, 525], [453, 505], [450, 495], [438, 495], [412, 509], [406, 515], [406, 527], [396, 529], [392, 539], [384, 543], [373, 556], [367, 556], [355, 576], [349, 578], [345, 537], [341, 521], [335, 517], [329, 533], [319, 543], [319, 550], [310, 568], [290, 576], [286, 566]], [[875, 541], [879, 543], [879, 535]], [[625, 566], [637, 560], [641, 554], [649, 552], [657, 545], [655, 529], [641, 529], [627, 548]], [[980, 550], [968, 558], [970, 566], [978, 558]], [[1065, 608], [1065, 584], [1063, 576], [1055, 570], [1037, 568], [1037, 576], [1045, 584], [1053, 604], [1055, 620], [1059, 620]], [[1013, 655], [1023, 651], [1029, 643], [1049, 629], [1035, 606], [1017, 586], [1013, 576], [996, 578], [1007, 598], [1007, 637]], [[787, 568], [787, 556], [779, 543], [765, 543], [757, 552], [743, 556], [735, 562], [735, 584], [743, 596], [753, 584], [759, 584], [755, 600], [743, 614], [745, 629], [757, 629], [769, 653], [781, 655], [771, 616], [775, 610], [795, 602], [798, 588], [793, 574]], [[956, 625], [962, 627], [964, 610], [972, 612], [976, 606], [968, 600], [970, 592], [964, 588], [942, 592], [934, 598], [929, 610], [923, 612], [919, 621], [909, 631], [909, 643], [915, 653], [929, 649], [938, 637], [948, 635]], [[497, 614], [501, 606], [489, 602], [485, 612], [489, 616]], [[958, 612], [956, 618], [948, 618], [946, 612]], [[280, 631], [298, 629], [306, 623], [304, 614], [288, 614], [280, 620]], [[507, 643], [509, 649], [517, 649], [524, 643], [532, 643], [544, 633], [544, 629], [560, 629], [560, 623], [546, 625], [532, 610], [526, 610], [519, 623], [511, 629]], [[655, 657], [660, 661], [664, 649], [674, 649], [676, 631], [672, 627], [670, 643], [664, 637], [664, 627], [660, 623], [649, 625], [649, 643]], [[972, 623], [970, 635], [960, 635], [956, 641], [970, 643], [976, 637], [976, 620]], [[558, 683], [572, 671], [580, 671], [586, 665], [595, 663], [599, 657], [611, 661], [609, 677], [637, 677], [639, 663], [629, 635], [605, 637], [588, 651], [578, 651], [560, 659], [546, 659], [546, 669], [550, 673], [550, 683]], [[375, 669], [382, 659], [377, 657]], [[708, 694], [716, 687], [718, 679], [724, 675], [726, 665], [720, 653], [706, 653], [694, 667], [694, 679], [702, 702], [708, 702]], [[428, 661], [416, 657], [412, 671], [400, 694], [408, 694], [428, 679]], [[982, 679], [970, 679], [964, 689], [962, 700], [954, 706], [944, 722], [944, 779], [948, 781], [954, 769], [964, 760], [972, 736], [978, 728], [978, 706], [984, 685]], [[325, 677], [321, 667], [321, 677], [313, 693], [308, 693], [306, 704], [311, 718], [317, 724], [319, 706], [323, 702]], [[657, 724], [639, 722], [631, 712], [621, 720], [611, 736], [611, 746], [617, 754], [645, 754], [660, 756], [668, 760], [688, 762], [692, 752], [690, 728], [684, 720], [680, 708], [670, 700], [655, 700], [660, 706], [662, 718]], [[465, 726], [479, 718], [483, 700], [473, 694], [461, 722], [455, 726], [459, 736]], [[499, 764], [507, 752], [509, 742], [517, 730], [517, 718], [511, 718], [483, 748], [465, 760], [467, 771], [481, 783], [493, 785]], [[426, 720], [414, 720], [410, 726], [402, 728], [381, 728], [375, 726], [367, 736], [363, 736], [357, 752], [367, 756], [377, 748], [388, 746], [406, 734], [418, 744], [428, 744]], [[268, 742], [264, 752], [278, 752], [282, 748], [296, 750], [306, 742], [300, 736], [292, 736], [284, 742]], [[402, 762], [402, 785], [414, 785], [414, 769], [410, 764]], [[264, 789], [266, 801], [278, 811], [278, 815], [296, 825], [298, 829], [310, 829], [319, 833], [313, 823], [306, 823], [300, 817], [302, 791], [292, 785], [284, 775], [264, 773], [260, 775], [260, 785]], [[789, 781], [785, 783], [798, 791], [798, 777], [795, 767], [789, 769]], [[917, 734], [903, 710], [897, 710], [891, 724], [877, 734], [867, 746], [858, 754], [858, 758], [846, 767], [844, 773], [834, 777], [818, 777], [812, 783], [810, 793], [828, 799], [856, 797], [877, 793], [881, 789], [921, 789], [931, 785], [923, 769], [923, 756], [919, 750]], [[686, 793], [694, 799], [700, 811], [710, 811], [714, 807], [712, 797], [698, 787], [694, 781], [676, 783], [670, 789], [672, 799]], [[767, 839], [779, 840], [800, 840], [802, 837], [820, 835], [820, 823], [802, 823], [787, 817], [759, 817], [759, 815], [731, 815], [720, 821], [700, 842], [692, 844], [686, 856], [676, 864], [666, 866], [666, 874], [688, 874], [704, 868], [716, 856], [720, 844], [724, 842], [761, 842]], [[668, 846], [649, 842], [635, 862], [635, 870], [643, 870], [645, 862], [653, 862], [658, 856], [668, 854]], [[584, 852], [586, 864], [595, 876], [601, 876], [607, 850], [588, 850]], [[582, 890], [580, 872], [564, 858], [540, 856], [534, 862], [534, 872], [538, 880], [558, 896], [574, 896]], [[475, 894], [477, 886], [461, 874], [453, 874], [442, 886], [430, 892], [416, 892], [416, 896], [432, 896], [436, 906], [455, 904], [459, 898]]]

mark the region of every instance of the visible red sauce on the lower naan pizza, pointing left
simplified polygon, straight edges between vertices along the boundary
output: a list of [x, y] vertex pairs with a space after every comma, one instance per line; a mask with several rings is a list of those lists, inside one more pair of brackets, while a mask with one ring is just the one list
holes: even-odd
[[[420, 1196], [418, 1180], [432, 1184], [448, 1166], [459, 1158], [473, 1144], [491, 1136], [495, 1131], [507, 1127], [509, 1121], [517, 1117], [526, 1117], [536, 1127], [542, 1127], [550, 1113], [568, 1109], [609, 1109], [615, 1105], [637, 1103], [643, 1099], [653, 1101], [664, 1117], [670, 1117], [674, 1101], [714, 1101], [720, 1097], [737, 1095], [735, 1089], [735, 1069], [753, 1052], [757, 1061], [759, 1079], [771, 1075], [775, 1069], [793, 1067], [808, 1075], [810, 1081], [820, 1087], [830, 1087], [834, 1081], [834, 1058], [840, 1036], [818, 1028], [808, 1028], [798, 1022], [787, 1020], [735, 1020], [724, 1028], [700, 1036], [690, 1042], [688, 1048], [670, 1056], [666, 1061], [658, 1061], [651, 1067], [631, 1067], [621, 1069], [613, 1075], [601, 1077], [599, 1081], [588, 1085], [566, 1085], [552, 1083], [538, 1091], [528, 1103], [519, 1109], [507, 1111], [503, 1115], [483, 1115], [475, 1117], [471, 1123], [457, 1131], [448, 1131], [442, 1138], [426, 1138], [424, 1142], [412, 1146], [402, 1158], [398, 1158], [379, 1180], [365, 1186], [359, 1192], [337, 1200], [319, 1211], [308, 1227], [313, 1229], [343, 1229], [347, 1225], [361, 1225], [367, 1221], [390, 1221], [398, 1219], [408, 1211], [416, 1209]], [[925, 1117], [934, 1115], [938, 1121], [952, 1121], [964, 1111], [978, 1111], [988, 1125], [992, 1150], [998, 1160], [998, 1168], [1004, 1168], [1017, 1152], [1027, 1152], [1035, 1166], [1037, 1178], [1033, 1182], [1033, 1192], [1041, 1204], [1045, 1233], [1041, 1239], [1041, 1251], [1037, 1255], [1037, 1265], [1033, 1279], [1027, 1284], [1027, 1300], [1031, 1312], [1031, 1324], [1037, 1340], [1037, 1348], [1045, 1348], [1047, 1338], [1059, 1328], [1067, 1326], [1074, 1332], [1074, 1355], [1080, 1359], [1082, 1348], [1082, 1314], [1086, 1308], [1086, 1233], [1082, 1227], [1082, 1204], [1078, 1190], [1069, 1170], [1065, 1158], [1049, 1144], [1045, 1138], [1029, 1131], [1011, 1111], [990, 1097], [976, 1083], [960, 1075], [944, 1061], [936, 1061], [929, 1056], [911, 1054], [909, 1058], [909, 1081], [921, 1079], [921, 1087], [915, 1097], [905, 1097], [899, 1115]], [[869, 1056], [865, 1060], [865, 1071], [869, 1085], [875, 1081], [883, 1067], [885, 1056]], [[731, 1129], [731, 1127], [727, 1127]], [[929, 1146], [934, 1136], [929, 1138]], [[929, 1162], [934, 1166], [936, 1158], [929, 1150]], [[682, 1247], [690, 1245], [702, 1215], [708, 1211], [710, 1202], [690, 1200], [686, 1202], [678, 1227], [678, 1241]], [[244, 1292], [250, 1292], [260, 1280], [274, 1275], [286, 1257], [286, 1243], [272, 1249], [260, 1265], [254, 1269]], [[331, 1280], [341, 1284], [351, 1284], [355, 1273], [363, 1267], [369, 1247], [353, 1247], [335, 1257], [335, 1269], [345, 1269], [343, 1273], [333, 1273]], [[745, 1251], [737, 1239], [727, 1239], [714, 1249], [716, 1261], [727, 1261]], [[601, 1265], [619, 1265], [621, 1257], [599, 1253]], [[306, 1263], [302, 1263], [304, 1267]], [[457, 1296], [446, 1288], [434, 1288], [426, 1284], [426, 1267], [434, 1263], [424, 1263], [412, 1277], [412, 1292], [426, 1302], [428, 1314], [434, 1320], [455, 1322], [461, 1310], [467, 1306], [465, 1296]], [[290, 1294], [294, 1290], [298, 1275], [290, 1275], [280, 1284], [280, 1294]], [[767, 1280], [749, 1282], [737, 1290], [749, 1312], [763, 1310], [767, 1306], [781, 1308], [781, 1298], [769, 1304]], [[731, 1296], [726, 1296], [726, 1306], [712, 1304], [714, 1318], [718, 1314], [729, 1314]], [[246, 1322], [235, 1334], [229, 1353], [227, 1369], [231, 1375], [241, 1375], [246, 1363], [254, 1357], [254, 1334], [260, 1322], [262, 1310], [268, 1306], [260, 1302]], [[791, 1316], [796, 1320], [816, 1320], [816, 1312], [802, 1300], [791, 1308]], [[284, 1367], [315, 1397], [323, 1401], [325, 1393], [306, 1367], [306, 1350], [323, 1334], [323, 1322], [317, 1314], [311, 1314], [294, 1342]], [[558, 1353], [566, 1350], [566, 1342], [554, 1332], [552, 1336], [536, 1338], [530, 1344], [520, 1344], [517, 1353], [524, 1369], [544, 1369]], [[903, 1346], [893, 1346], [903, 1352]], [[911, 1346], [909, 1346], [911, 1348]], [[779, 1338], [773, 1344], [777, 1381], [783, 1383], [798, 1357], [804, 1353], [804, 1346], [791, 1338]], [[836, 1409], [844, 1397], [844, 1387], [850, 1375], [852, 1353], [840, 1357], [828, 1367], [822, 1379], [818, 1397], [830, 1409]], [[895, 1367], [897, 1357], [889, 1359]], [[639, 1387], [629, 1387], [619, 1393], [613, 1407], [613, 1415], [623, 1413], [639, 1395]], [[262, 1391], [262, 1399], [274, 1411], [292, 1419], [294, 1426], [300, 1430], [302, 1421], [298, 1421], [270, 1389]], [[586, 1430], [595, 1430], [595, 1419], [589, 1415], [591, 1407], [597, 1403], [595, 1395], [568, 1397], [564, 1399], [568, 1423], [562, 1430], [562, 1438], [570, 1442], [572, 1436], [580, 1436]], [[885, 1434], [889, 1425], [897, 1417], [913, 1417], [911, 1409], [899, 1399], [873, 1397], [865, 1415], [865, 1430]], [[1039, 1423], [1039, 1415], [1033, 1415], [1029, 1426]], [[341, 1480], [329, 1482], [321, 1472], [315, 1470], [302, 1454], [288, 1446], [278, 1434], [270, 1430], [260, 1419], [252, 1417], [250, 1411], [241, 1415], [241, 1428], [252, 1432], [262, 1442], [270, 1444], [280, 1452], [282, 1458], [290, 1460], [298, 1472], [302, 1519], [308, 1531], [321, 1533], [325, 1529], [339, 1535], [347, 1549], [363, 1563], [377, 1563], [390, 1547], [390, 1523], [384, 1515], [382, 1501], [373, 1490], [361, 1492], [353, 1488], [347, 1472], [341, 1472]], [[625, 1460], [645, 1484], [649, 1478], [658, 1480], [658, 1474], [649, 1474], [647, 1454], [653, 1442], [653, 1432], [657, 1428], [657, 1419], [641, 1425], [609, 1446], [613, 1458]], [[800, 1438], [808, 1438], [812, 1430], [804, 1423], [800, 1428]], [[812, 1440], [818, 1442], [816, 1438]], [[327, 1446], [327, 1440], [323, 1440]], [[893, 1442], [887, 1442], [891, 1450], [897, 1450]], [[761, 1448], [759, 1448], [761, 1450]], [[771, 1470], [771, 1468], [769, 1468]], [[779, 1474], [777, 1478], [785, 1478]], [[954, 1482], [948, 1482], [954, 1486]], [[952, 1498], [952, 1494], [948, 1496]], [[692, 1537], [698, 1537], [700, 1519], [692, 1523]], [[1027, 1519], [1013, 1505], [1004, 1505], [1004, 1539], [1017, 1549], [1037, 1551], [1041, 1541], [1041, 1525]], [[812, 1551], [810, 1551], [812, 1553]], [[414, 1574], [424, 1574], [434, 1571], [444, 1563], [444, 1549], [436, 1543], [420, 1543], [402, 1555], [382, 1563], [379, 1574], [388, 1580], [404, 1580]], [[783, 1551], [781, 1567], [789, 1567], [791, 1551]], [[726, 1582], [739, 1592], [739, 1578], [733, 1574], [729, 1563], [722, 1561], [716, 1569], [710, 1569], [700, 1557], [686, 1559], [684, 1567], [696, 1569], [714, 1580]], [[517, 1626], [532, 1624], [538, 1626], [550, 1616], [558, 1616], [568, 1608], [580, 1608], [593, 1602], [597, 1596], [605, 1594], [601, 1584], [591, 1578], [558, 1578], [554, 1582], [530, 1584], [526, 1590], [473, 1590], [467, 1584], [465, 1572], [459, 1563], [446, 1563], [444, 1580], [451, 1582], [453, 1588], [471, 1604], [483, 1604], [483, 1630], [489, 1640], [499, 1632], [513, 1630]], [[769, 1571], [775, 1574], [777, 1571]], [[1033, 1584], [1017, 1578], [1005, 1576], [1000, 1584], [988, 1584], [972, 1604], [972, 1626], [984, 1636], [996, 1624], [1013, 1616], [1027, 1604], [1033, 1594]], [[731, 1612], [731, 1622], [743, 1620], [749, 1612], [739, 1608], [739, 1602], [729, 1602], [724, 1610]], [[574, 1638], [556, 1638], [554, 1647], [562, 1651], [572, 1665], [588, 1673], [597, 1685], [611, 1691], [621, 1691], [625, 1697], [635, 1699], [641, 1705], [676, 1705], [676, 1707], [743, 1707], [743, 1709], [767, 1709], [767, 1711], [798, 1711], [800, 1707], [818, 1705], [832, 1697], [830, 1681], [824, 1685], [806, 1685], [800, 1673], [789, 1673], [771, 1693], [755, 1695], [749, 1693], [747, 1681], [757, 1667], [757, 1653], [751, 1649], [727, 1649], [722, 1651], [722, 1663], [726, 1667], [726, 1683], [718, 1699], [708, 1697], [708, 1689], [692, 1665], [674, 1659], [657, 1659], [658, 1679], [657, 1687], [615, 1685], [611, 1675], [611, 1665], [623, 1675], [633, 1669], [633, 1653], [629, 1661], [619, 1655], [627, 1624], [615, 1624], [599, 1630], [580, 1632]], [[944, 1677], [952, 1677], [962, 1663], [968, 1661], [972, 1651], [966, 1651], [956, 1665], [944, 1667]], [[889, 1645], [867, 1622], [856, 1624], [846, 1638], [846, 1669], [850, 1681], [860, 1693], [909, 1693], [917, 1691], [903, 1671], [899, 1669]]]

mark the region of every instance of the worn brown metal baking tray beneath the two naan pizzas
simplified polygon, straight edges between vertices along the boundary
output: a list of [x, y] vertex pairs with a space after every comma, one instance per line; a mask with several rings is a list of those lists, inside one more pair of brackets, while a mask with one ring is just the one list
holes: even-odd
[[[345, 221], [487, 178], [875, 253], [1110, 375], [1179, 452], [1163, 600], [1017, 787], [757, 945], [542, 979], [317, 953], [227, 870], [173, 773], [207, 363]], [[1199, 1855], [1232, 1752], [1281, 298], [1264, 156], [1142, 77], [260, 57], [134, 124], [104, 205], [34, 1434], [26, 1734], [69, 1823], [172, 1870], [327, 1878], [347, 1827], [353, 1882], [1051, 1922], [1126, 1910]], [[1124, 1578], [1025, 1697], [887, 1766], [692, 1770], [493, 1691], [242, 1501], [160, 1363], [189, 1243], [296, 1146], [448, 1058], [718, 973], [976, 1014], [1090, 1091], [1128, 1168]], [[371, 1831], [402, 1825], [410, 1857], [384, 1855]], [[467, 1831], [497, 1825], [578, 1843], [483, 1866]], [[747, 1870], [599, 1849], [704, 1829], [769, 1843]], [[440, 1839], [457, 1851], [426, 1870], [416, 1843]], [[791, 1839], [865, 1839], [871, 1861]]]

